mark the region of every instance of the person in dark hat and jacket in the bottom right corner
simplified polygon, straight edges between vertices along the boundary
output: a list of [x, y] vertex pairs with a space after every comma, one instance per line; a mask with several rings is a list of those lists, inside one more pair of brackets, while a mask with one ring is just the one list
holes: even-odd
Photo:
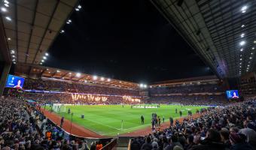
[[230, 133], [230, 150], [253, 150], [248, 142], [245, 142], [246, 136], [242, 133]]

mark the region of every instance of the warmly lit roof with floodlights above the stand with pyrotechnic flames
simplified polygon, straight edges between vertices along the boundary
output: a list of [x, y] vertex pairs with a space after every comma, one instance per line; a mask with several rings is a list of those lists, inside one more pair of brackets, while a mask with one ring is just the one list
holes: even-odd
[[124, 89], [139, 89], [138, 83], [123, 80], [114, 80], [107, 77], [98, 77], [91, 74], [81, 74], [58, 68], [48, 68], [41, 65], [19, 63], [15, 66], [15, 74], [22, 77], [42, 78], [51, 80], [71, 81], [84, 84], [112, 86]]

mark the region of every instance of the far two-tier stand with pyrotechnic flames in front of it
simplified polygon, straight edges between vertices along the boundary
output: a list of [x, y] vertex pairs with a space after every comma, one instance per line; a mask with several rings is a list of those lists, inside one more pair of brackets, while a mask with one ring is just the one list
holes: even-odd
[[[27, 79], [24, 89], [22, 97], [37, 101], [39, 104], [133, 104], [133, 101], [124, 101], [123, 96], [139, 98], [138, 89], [122, 89], [54, 80]], [[14, 94], [15, 92], [11, 93]], [[79, 93], [78, 98], [74, 98], [73, 94], [75, 96], [77, 93]], [[105, 101], [103, 99], [97, 101], [97, 98], [105, 98]]]

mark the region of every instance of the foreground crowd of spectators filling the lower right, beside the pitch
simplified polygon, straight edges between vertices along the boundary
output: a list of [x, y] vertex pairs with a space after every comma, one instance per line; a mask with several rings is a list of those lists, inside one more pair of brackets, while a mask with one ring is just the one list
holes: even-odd
[[175, 121], [169, 128], [131, 139], [130, 149], [201, 150], [256, 149], [256, 98], [211, 108], [200, 117]]

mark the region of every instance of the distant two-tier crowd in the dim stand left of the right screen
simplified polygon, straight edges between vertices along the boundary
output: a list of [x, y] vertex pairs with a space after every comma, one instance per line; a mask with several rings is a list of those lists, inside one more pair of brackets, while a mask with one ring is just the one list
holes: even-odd
[[224, 88], [218, 83], [189, 83], [175, 86], [158, 86], [149, 89], [148, 102], [185, 105], [225, 105], [230, 103]]

